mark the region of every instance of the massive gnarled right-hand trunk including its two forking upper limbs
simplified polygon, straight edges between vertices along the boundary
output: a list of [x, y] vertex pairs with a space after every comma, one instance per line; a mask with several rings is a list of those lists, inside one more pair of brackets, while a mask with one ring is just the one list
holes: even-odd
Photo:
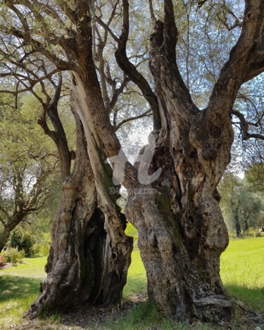
[[151, 36], [162, 127], [155, 132], [149, 174], [158, 167], [162, 174], [152, 184], [155, 194], [130, 195], [126, 214], [139, 231], [151, 296], [168, 315], [184, 321], [230, 321], [231, 303], [219, 274], [228, 236], [216, 187], [230, 162], [232, 105], [256, 61], [263, 15], [263, 1], [246, 1], [241, 36], [205, 110], [192, 102], [177, 68], [172, 1], [164, 1], [164, 22], [156, 21]]

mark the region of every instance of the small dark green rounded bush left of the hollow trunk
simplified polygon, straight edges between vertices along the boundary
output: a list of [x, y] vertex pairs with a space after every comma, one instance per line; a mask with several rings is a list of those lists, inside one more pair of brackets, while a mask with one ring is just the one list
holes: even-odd
[[24, 250], [27, 257], [34, 255], [34, 242], [33, 235], [23, 229], [15, 229], [10, 237], [11, 248], [18, 248], [19, 251]]

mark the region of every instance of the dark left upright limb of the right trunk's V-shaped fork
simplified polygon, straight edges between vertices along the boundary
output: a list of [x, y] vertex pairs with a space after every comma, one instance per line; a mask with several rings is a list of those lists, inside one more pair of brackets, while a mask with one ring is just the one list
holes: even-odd
[[[151, 34], [150, 68], [155, 78], [156, 90], [164, 111], [177, 121], [180, 117], [185, 122], [197, 115], [198, 109], [191, 100], [176, 63], [175, 46], [177, 27], [171, 0], [164, 1], [164, 23], [157, 20]], [[172, 104], [168, 99], [174, 99]]]

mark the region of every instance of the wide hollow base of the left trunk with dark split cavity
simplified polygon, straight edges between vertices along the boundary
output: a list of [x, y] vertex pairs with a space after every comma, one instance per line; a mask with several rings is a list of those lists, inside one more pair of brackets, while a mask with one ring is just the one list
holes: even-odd
[[47, 277], [25, 316], [34, 318], [44, 310], [65, 310], [78, 303], [120, 302], [132, 241], [124, 234], [125, 216], [116, 205], [117, 230], [109, 230], [108, 216], [98, 203], [86, 140], [77, 120], [75, 167], [63, 183], [61, 208], [52, 224]]

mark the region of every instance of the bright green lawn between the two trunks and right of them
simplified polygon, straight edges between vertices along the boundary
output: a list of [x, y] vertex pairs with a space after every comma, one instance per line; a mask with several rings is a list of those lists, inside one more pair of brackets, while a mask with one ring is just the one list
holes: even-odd
[[[264, 311], [264, 236], [230, 241], [222, 253], [221, 277], [230, 294]], [[142, 291], [146, 291], [146, 274], [139, 250], [134, 250], [124, 296]]]

